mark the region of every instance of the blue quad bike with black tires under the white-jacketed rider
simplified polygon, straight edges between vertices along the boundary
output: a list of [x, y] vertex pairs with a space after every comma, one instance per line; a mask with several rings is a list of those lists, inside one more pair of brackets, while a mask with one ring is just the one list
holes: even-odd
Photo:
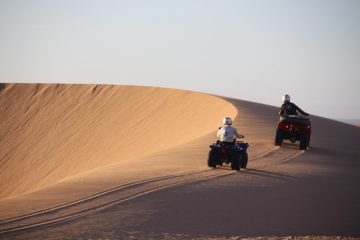
[[231, 164], [232, 170], [240, 170], [247, 166], [247, 147], [249, 144], [243, 141], [236, 141], [232, 146], [220, 144], [220, 140], [209, 145], [211, 148], [207, 155], [207, 166], [215, 168], [223, 163]]

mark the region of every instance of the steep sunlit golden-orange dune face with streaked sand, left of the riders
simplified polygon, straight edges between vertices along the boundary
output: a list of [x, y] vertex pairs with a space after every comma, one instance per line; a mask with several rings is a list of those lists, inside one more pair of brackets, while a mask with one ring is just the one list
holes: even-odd
[[0, 198], [181, 144], [236, 108], [186, 90], [6, 83], [0, 90]]

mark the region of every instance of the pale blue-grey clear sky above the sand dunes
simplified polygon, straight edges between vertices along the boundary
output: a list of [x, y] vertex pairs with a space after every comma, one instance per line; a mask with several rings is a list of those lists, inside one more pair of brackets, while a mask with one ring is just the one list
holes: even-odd
[[287, 93], [360, 119], [360, 0], [0, 0], [0, 82]]

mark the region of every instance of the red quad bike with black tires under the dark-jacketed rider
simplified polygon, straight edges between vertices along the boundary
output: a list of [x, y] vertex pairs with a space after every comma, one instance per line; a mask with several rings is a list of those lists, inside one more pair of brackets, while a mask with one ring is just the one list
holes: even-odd
[[300, 141], [299, 149], [306, 150], [311, 136], [311, 120], [303, 115], [281, 115], [277, 122], [275, 146], [281, 146], [283, 140], [292, 143]]

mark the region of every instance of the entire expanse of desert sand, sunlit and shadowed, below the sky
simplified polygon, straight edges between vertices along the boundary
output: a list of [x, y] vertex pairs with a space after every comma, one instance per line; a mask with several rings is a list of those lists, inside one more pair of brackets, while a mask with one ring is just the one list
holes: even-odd
[[[360, 237], [355, 125], [275, 147], [278, 107], [142, 86], [6, 83], [0, 108], [1, 239]], [[206, 165], [224, 116], [246, 169]]]

